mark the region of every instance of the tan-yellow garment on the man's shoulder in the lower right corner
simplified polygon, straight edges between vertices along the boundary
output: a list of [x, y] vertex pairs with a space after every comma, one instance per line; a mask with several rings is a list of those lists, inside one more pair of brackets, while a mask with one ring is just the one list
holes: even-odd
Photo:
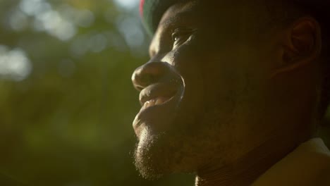
[[320, 138], [300, 144], [252, 186], [330, 186], [330, 151]]

